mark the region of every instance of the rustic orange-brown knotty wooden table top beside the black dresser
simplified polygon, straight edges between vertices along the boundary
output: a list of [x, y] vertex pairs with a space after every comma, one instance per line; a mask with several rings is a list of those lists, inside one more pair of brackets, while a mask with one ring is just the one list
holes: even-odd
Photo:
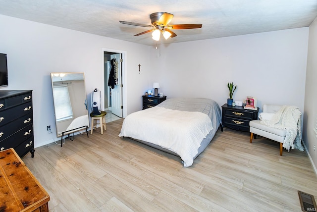
[[49, 200], [12, 148], [0, 152], [0, 212], [48, 212]]

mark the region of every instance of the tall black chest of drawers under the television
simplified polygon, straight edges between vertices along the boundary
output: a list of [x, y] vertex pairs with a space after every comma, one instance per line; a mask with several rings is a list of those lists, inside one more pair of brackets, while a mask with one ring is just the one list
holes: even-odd
[[13, 148], [20, 158], [34, 157], [31, 90], [0, 91], [0, 151]]

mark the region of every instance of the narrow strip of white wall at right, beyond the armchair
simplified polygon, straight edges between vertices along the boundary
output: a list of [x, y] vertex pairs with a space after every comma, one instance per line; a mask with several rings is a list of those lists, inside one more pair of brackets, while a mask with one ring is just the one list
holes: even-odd
[[306, 73], [305, 107], [303, 123], [303, 140], [309, 157], [314, 163], [317, 173], [317, 132], [314, 131], [317, 122], [317, 18], [309, 27], [309, 45]]

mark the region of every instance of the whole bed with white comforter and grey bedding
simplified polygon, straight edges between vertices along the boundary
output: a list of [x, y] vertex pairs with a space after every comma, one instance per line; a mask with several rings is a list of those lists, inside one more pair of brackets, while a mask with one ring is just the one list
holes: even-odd
[[179, 156], [187, 167], [206, 149], [220, 123], [220, 107], [211, 99], [167, 99], [129, 114], [119, 137]]

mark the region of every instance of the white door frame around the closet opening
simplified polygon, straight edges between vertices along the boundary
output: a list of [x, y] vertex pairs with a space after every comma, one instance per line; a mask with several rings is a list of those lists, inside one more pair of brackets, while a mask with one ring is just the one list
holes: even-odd
[[[102, 48], [102, 58], [103, 58], [103, 62], [102, 62], [102, 76], [103, 76], [103, 79], [105, 79], [105, 69], [104, 69], [104, 53], [105, 52], [112, 52], [112, 53], [121, 53], [121, 58], [122, 58], [122, 69], [121, 69], [121, 72], [122, 72], [122, 106], [123, 106], [123, 109], [122, 109], [122, 117], [125, 118], [127, 116], [127, 80], [126, 80], [126, 75], [127, 75], [127, 65], [126, 65], [126, 54], [127, 52], [126, 51], [122, 51], [122, 50], [114, 50], [114, 49], [107, 49], [107, 48]], [[105, 81], [105, 80], [103, 80]], [[105, 82], [103, 82], [103, 91], [105, 91], [105, 87], [107, 85], [105, 85]], [[103, 92], [104, 93], [104, 92]], [[103, 95], [102, 99], [104, 100], [105, 98], [105, 94]], [[105, 108], [105, 101], [103, 101], [103, 108]]]

